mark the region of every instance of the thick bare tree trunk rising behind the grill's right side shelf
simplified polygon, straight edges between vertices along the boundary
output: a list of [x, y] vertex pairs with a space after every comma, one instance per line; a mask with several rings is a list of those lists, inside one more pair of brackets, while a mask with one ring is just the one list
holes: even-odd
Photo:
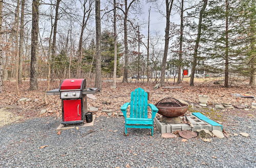
[[95, 88], [101, 90], [101, 27], [100, 27], [100, 0], [95, 0], [95, 22], [96, 22], [96, 68]]

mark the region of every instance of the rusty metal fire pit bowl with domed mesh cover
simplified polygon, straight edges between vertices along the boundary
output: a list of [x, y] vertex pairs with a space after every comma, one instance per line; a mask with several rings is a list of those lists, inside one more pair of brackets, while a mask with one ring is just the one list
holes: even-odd
[[184, 115], [188, 109], [188, 105], [183, 104], [172, 97], [166, 97], [155, 105], [159, 109], [158, 113], [162, 115], [160, 122], [164, 122], [166, 124], [181, 123], [179, 116]]

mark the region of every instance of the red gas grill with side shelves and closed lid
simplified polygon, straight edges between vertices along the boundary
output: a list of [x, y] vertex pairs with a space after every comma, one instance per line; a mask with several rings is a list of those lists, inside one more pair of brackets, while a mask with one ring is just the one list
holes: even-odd
[[97, 88], [86, 88], [86, 79], [65, 79], [59, 89], [47, 92], [47, 95], [60, 95], [62, 104], [61, 124], [83, 123], [87, 113], [87, 94], [94, 94]]

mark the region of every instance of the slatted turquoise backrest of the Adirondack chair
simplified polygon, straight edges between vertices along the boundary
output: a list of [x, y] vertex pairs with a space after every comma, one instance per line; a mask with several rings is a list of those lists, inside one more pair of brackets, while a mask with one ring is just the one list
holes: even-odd
[[147, 118], [147, 93], [141, 88], [131, 93], [130, 118]]

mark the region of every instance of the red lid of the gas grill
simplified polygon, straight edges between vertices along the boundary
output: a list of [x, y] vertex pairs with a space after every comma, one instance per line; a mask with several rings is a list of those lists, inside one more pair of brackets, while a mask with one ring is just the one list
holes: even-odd
[[60, 91], [83, 89], [86, 89], [86, 79], [65, 79], [60, 83]]

